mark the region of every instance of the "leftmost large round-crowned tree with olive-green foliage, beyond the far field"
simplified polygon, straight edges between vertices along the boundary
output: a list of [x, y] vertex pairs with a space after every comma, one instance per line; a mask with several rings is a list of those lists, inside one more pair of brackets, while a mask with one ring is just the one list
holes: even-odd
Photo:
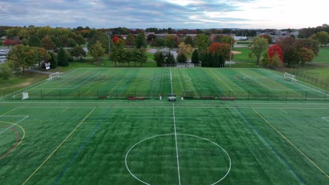
[[22, 69], [25, 72], [27, 67], [36, 63], [34, 50], [30, 46], [17, 45], [8, 53], [8, 62], [12, 69]]

